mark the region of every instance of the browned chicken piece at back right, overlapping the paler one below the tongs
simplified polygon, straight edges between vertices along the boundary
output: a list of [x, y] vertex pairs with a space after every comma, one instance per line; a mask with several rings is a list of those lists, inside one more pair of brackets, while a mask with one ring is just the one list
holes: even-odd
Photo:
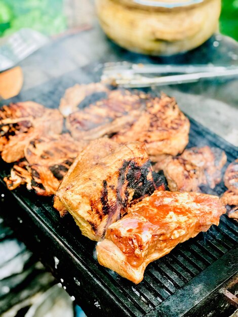
[[175, 99], [162, 94], [161, 98], [147, 100], [138, 120], [115, 134], [113, 140], [145, 142], [150, 159], [156, 162], [162, 154], [177, 155], [184, 150], [189, 128], [188, 118], [179, 110]]

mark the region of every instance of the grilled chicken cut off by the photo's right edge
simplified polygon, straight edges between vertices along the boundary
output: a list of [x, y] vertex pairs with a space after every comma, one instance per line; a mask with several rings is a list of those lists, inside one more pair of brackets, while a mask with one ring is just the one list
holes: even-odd
[[228, 217], [238, 218], [238, 159], [230, 163], [225, 171], [224, 183], [228, 188], [221, 196], [221, 201], [224, 205], [234, 206], [228, 211]]

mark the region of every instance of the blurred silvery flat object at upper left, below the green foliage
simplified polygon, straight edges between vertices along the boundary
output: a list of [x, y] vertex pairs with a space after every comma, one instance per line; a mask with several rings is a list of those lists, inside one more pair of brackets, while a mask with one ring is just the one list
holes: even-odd
[[0, 46], [0, 71], [15, 66], [49, 41], [47, 36], [28, 28], [3, 38]]

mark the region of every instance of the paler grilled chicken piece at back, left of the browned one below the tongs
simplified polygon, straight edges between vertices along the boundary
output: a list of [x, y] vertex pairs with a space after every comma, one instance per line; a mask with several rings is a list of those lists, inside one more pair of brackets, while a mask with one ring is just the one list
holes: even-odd
[[70, 114], [66, 119], [66, 127], [77, 140], [110, 136], [138, 119], [147, 97], [142, 92], [111, 91], [107, 99]]

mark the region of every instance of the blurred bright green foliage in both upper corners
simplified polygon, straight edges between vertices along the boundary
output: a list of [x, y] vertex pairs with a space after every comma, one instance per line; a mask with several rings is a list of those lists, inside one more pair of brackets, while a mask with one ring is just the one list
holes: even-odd
[[[63, 32], [67, 28], [63, 1], [0, 0], [0, 36], [21, 27], [49, 35]], [[222, 0], [220, 31], [238, 41], [238, 0]]]

